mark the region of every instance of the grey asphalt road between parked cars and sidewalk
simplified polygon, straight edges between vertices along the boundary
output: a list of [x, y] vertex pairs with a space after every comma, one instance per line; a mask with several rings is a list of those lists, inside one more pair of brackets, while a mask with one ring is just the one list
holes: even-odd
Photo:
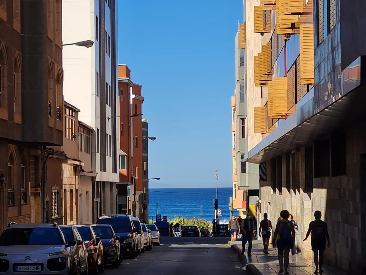
[[106, 267], [105, 275], [245, 275], [230, 238], [162, 237], [161, 246], [135, 259], [125, 258], [119, 268]]

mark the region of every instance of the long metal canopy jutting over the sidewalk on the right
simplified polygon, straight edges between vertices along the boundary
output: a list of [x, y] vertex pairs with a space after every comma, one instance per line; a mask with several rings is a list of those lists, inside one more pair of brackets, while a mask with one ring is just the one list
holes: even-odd
[[262, 163], [364, 117], [366, 92], [362, 69], [366, 68], [365, 60], [365, 56], [360, 56], [340, 73], [340, 91], [328, 106], [314, 110], [314, 91], [306, 94], [296, 104], [295, 113], [250, 150], [246, 161]]

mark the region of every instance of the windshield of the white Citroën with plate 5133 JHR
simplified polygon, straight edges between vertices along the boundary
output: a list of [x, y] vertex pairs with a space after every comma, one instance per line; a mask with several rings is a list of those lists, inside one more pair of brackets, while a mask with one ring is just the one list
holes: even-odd
[[5, 245], [63, 245], [58, 228], [13, 228], [1, 235], [0, 246]]

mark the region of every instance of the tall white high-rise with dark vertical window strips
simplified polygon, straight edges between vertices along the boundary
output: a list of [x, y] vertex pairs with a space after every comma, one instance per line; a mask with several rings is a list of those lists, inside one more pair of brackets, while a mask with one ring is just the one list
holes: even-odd
[[[93, 220], [116, 213], [119, 181], [117, 104], [117, 1], [63, 1], [63, 41], [93, 40], [91, 48], [64, 47], [65, 99], [77, 105], [80, 119], [95, 131], [92, 170]], [[72, 20], [70, 20], [72, 18]]]

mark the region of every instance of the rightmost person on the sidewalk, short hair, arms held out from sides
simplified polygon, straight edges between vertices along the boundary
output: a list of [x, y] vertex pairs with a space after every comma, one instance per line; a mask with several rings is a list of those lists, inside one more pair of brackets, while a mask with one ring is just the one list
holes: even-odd
[[[323, 273], [322, 265], [324, 260], [324, 250], [326, 241], [328, 242], [328, 248], [330, 247], [330, 239], [328, 234], [328, 225], [325, 221], [321, 220], [321, 212], [315, 211], [315, 221], [311, 221], [309, 224], [309, 230], [306, 233], [304, 241], [309, 237], [311, 232], [311, 250], [314, 252], [314, 263], [316, 266], [314, 274]], [[318, 260], [319, 255], [319, 260]], [[318, 268], [319, 265], [319, 268]]]

